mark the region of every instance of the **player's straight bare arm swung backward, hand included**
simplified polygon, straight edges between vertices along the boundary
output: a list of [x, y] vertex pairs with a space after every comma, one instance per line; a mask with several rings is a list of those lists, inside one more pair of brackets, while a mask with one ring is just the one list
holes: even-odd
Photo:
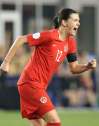
[[16, 51], [18, 48], [20, 48], [21, 45], [27, 42], [27, 37], [26, 36], [19, 36], [16, 38], [14, 43], [12, 44], [11, 48], [9, 49], [7, 55], [4, 58], [4, 61], [2, 62], [0, 69], [8, 72], [9, 71], [9, 65], [12, 61], [12, 58], [14, 57]]

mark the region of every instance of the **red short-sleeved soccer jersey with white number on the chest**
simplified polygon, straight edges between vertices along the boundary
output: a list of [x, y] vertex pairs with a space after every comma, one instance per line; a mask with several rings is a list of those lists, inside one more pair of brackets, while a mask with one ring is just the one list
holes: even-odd
[[76, 52], [73, 36], [59, 40], [57, 29], [27, 35], [30, 46], [35, 46], [28, 64], [25, 66], [18, 85], [29, 84], [37, 88], [47, 88], [48, 82], [68, 54]]

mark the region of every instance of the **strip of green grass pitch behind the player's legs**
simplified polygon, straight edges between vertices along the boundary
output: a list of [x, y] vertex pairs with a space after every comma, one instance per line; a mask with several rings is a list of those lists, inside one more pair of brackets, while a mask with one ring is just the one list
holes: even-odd
[[[99, 126], [99, 110], [58, 110], [62, 126]], [[0, 126], [29, 126], [18, 111], [0, 111]]]

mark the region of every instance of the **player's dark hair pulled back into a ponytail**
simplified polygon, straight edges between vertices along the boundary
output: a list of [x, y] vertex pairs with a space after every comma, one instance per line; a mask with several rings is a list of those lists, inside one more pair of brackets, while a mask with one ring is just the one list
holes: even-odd
[[54, 27], [58, 28], [61, 24], [61, 21], [68, 20], [72, 13], [78, 13], [78, 12], [73, 9], [70, 9], [70, 8], [64, 8], [64, 9], [60, 10], [53, 19]]

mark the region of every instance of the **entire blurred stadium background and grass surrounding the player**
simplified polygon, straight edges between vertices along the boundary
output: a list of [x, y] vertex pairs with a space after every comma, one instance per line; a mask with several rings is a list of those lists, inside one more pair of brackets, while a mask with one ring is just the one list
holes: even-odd
[[[80, 12], [78, 57], [97, 59], [95, 71], [72, 76], [67, 61], [52, 78], [48, 93], [58, 108], [63, 126], [99, 125], [99, 2], [98, 0], [0, 0], [0, 63], [18, 35], [49, 29], [63, 7]], [[0, 126], [25, 126], [19, 115], [16, 82], [32, 49], [21, 47], [9, 74], [0, 76]]]

